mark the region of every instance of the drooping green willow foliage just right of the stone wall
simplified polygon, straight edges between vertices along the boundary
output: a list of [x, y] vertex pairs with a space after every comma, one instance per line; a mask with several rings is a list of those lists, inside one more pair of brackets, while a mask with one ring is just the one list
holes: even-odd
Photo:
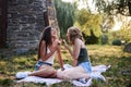
[[60, 35], [62, 38], [64, 38], [67, 29], [73, 25], [75, 3], [68, 3], [62, 2], [61, 0], [55, 0], [55, 7], [57, 11]]

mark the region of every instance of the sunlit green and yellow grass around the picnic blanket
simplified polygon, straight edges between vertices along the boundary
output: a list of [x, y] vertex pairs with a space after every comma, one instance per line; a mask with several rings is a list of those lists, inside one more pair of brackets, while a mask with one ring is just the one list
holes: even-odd
[[[71, 57], [64, 48], [62, 58], [64, 63], [71, 64]], [[111, 67], [103, 73], [107, 82], [93, 80], [92, 87], [131, 87], [131, 53], [122, 51], [122, 47], [117, 46], [87, 46], [92, 65], [110, 64]], [[0, 55], [0, 87], [47, 87], [46, 84], [35, 83], [15, 83], [15, 73], [20, 71], [34, 71], [37, 60], [35, 52], [9, 57]], [[59, 67], [58, 61], [55, 60], [53, 66]], [[53, 84], [50, 87], [73, 87], [68, 82]]]

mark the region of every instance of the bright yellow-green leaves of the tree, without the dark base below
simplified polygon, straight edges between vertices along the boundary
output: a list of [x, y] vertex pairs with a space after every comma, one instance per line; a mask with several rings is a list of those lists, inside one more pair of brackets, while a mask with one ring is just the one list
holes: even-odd
[[95, 37], [99, 37], [102, 35], [102, 15], [100, 14], [92, 14], [86, 9], [82, 9], [78, 11], [76, 23], [81, 27], [81, 30], [86, 35], [91, 36], [91, 32], [93, 32]]

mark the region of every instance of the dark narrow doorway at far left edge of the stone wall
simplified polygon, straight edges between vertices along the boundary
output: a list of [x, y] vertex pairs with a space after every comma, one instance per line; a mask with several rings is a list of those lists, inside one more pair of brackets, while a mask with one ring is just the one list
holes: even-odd
[[4, 48], [7, 41], [7, 1], [0, 0], [0, 48]]

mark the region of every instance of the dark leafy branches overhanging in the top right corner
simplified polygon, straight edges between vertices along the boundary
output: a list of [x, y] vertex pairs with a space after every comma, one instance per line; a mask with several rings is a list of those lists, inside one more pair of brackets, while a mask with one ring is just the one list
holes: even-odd
[[130, 0], [94, 0], [99, 12], [108, 14], [120, 13], [122, 15], [131, 15], [131, 1]]

